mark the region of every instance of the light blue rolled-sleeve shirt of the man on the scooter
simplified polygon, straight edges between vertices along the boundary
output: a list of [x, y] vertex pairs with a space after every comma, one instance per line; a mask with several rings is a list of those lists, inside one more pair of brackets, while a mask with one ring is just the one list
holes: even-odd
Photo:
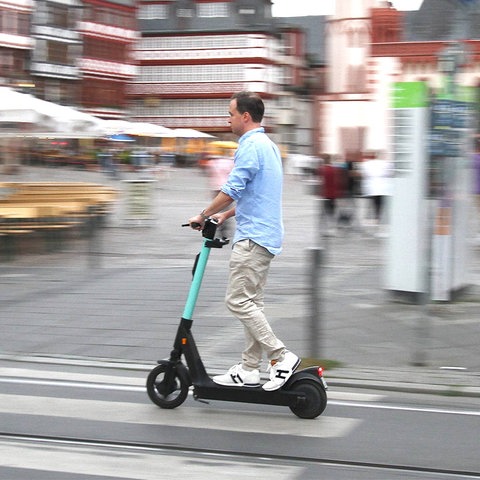
[[233, 243], [252, 240], [273, 255], [282, 251], [282, 157], [263, 127], [238, 141], [234, 167], [222, 192], [236, 201]]

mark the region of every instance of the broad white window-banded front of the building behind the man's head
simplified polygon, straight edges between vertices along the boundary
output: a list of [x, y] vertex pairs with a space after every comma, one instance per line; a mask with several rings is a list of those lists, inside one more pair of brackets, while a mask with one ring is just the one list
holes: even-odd
[[227, 132], [225, 99], [253, 90], [267, 100], [279, 90], [276, 56], [276, 41], [261, 33], [143, 38], [140, 75], [129, 89], [133, 113], [170, 128]]

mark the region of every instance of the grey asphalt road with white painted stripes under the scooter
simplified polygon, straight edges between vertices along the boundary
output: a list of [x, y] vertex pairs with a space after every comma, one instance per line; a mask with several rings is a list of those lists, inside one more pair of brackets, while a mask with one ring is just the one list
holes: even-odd
[[150, 403], [142, 369], [0, 369], [1, 479], [480, 478], [479, 400], [330, 390], [326, 411]]

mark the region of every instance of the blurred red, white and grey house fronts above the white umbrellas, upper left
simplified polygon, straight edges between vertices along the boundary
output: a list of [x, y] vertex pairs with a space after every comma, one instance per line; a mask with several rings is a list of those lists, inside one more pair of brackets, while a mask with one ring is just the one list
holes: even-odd
[[0, 0], [0, 83], [123, 117], [137, 32], [135, 0]]

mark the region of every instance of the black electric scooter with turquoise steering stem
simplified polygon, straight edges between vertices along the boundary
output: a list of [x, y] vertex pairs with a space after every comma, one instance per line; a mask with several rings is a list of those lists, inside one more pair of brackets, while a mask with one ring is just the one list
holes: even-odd
[[[190, 226], [185, 224], [183, 226]], [[222, 248], [227, 239], [215, 238], [217, 223], [207, 219], [202, 230], [203, 246], [196, 256], [188, 293], [170, 358], [159, 360], [147, 378], [147, 392], [153, 403], [173, 409], [181, 405], [193, 386], [195, 400], [223, 400], [287, 406], [300, 418], [316, 418], [327, 406], [327, 383], [322, 367], [297, 370], [278, 390], [216, 384], [207, 374], [192, 333], [193, 311], [212, 248]], [[185, 363], [182, 362], [182, 356]]]

